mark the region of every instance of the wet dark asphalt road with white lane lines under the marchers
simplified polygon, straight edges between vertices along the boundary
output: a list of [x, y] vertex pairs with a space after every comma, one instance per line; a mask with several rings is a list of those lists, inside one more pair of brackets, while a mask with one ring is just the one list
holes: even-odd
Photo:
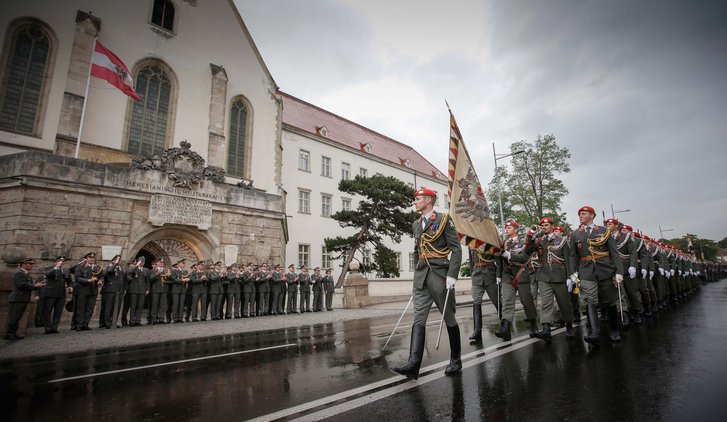
[[469, 308], [457, 312], [462, 374], [444, 377], [446, 330], [430, 315], [418, 381], [389, 370], [408, 356], [411, 312], [114, 352], [0, 363], [7, 420], [668, 420], [727, 419], [727, 281], [703, 286], [618, 345], [591, 349], [557, 331], [469, 346]]

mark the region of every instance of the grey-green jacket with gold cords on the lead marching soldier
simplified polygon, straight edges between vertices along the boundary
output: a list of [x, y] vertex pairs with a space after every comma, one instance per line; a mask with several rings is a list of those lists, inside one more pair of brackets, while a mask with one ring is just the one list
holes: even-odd
[[[457, 230], [449, 216], [436, 211], [426, 220], [421, 216], [412, 224], [412, 232], [414, 233], [414, 287], [421, 289], [430, 272], [441, 278], [456, 279], [462, 264], [462, 248], [457, 238]], [[436, 251], [446, 252], [449, 256], [446, 254], [435, 256], [438, 255]]]

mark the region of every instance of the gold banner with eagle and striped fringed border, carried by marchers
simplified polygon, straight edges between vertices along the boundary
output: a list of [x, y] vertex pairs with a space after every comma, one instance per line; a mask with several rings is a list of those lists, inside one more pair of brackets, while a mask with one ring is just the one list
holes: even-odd
[[462, 244], [470, 249], [497, 252], [501, 247], [497, 225], [452, 110], [449, 128], [449, 216]]

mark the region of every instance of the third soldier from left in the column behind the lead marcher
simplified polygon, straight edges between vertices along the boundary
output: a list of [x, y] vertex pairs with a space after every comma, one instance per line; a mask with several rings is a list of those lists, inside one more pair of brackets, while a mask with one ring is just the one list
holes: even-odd
[[[543, 329], [535, 334], [536, 337], [549, 341], [551, 338], [550, 326], [553, 323], [554, 301], [558, 302], [560, 317], [565, 321], [566, 339], [574, 339], [573, 310], [571, 309], [569, 292], [573, 290], [573, 281], [568, 278], [572, 271], [569, 269], [570, 257], [568, 242], [562, 236], [553, 233], [553, 219], [543, 217], [540, 219], [540, 235], [533, 239], [532, 247], [538, 253], [540, 266], [535, 273], [540, 294], [540, 323]], [[534, 233], [529, 233], [534, 236]]]

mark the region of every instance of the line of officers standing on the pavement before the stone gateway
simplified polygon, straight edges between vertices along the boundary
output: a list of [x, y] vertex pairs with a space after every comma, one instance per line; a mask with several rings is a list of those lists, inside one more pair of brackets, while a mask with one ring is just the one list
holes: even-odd
[[[91, 330], [89, 325], [99, 294], [99, 328], [140, 326], [145, 307], [146, 324], [333, 310], [335, 286], [330, 269], [322, 272], [316, 267], [309, 273], [302, 266], [296, 272], [295, 266], [290, 265], [284, 272], [280, 265], [271, 271], [267, 264], [225, 267], [221, 262], [204, 261], [187, 269], [186, 259], [177, 261], [172, 268], [165, 268], [164, 261], [157, 259], [149, 269], [143, 256], [124, 264], [120, 255], [104, 268], [96, 263], [93, 252], [67, 269], [63, 266], [65, 261], [62, 256], [56, 257], [53, 266], [37, 281], [30, 276], [35, 263], [32, 259], [19, 264], [12, 280], [6, 340], [22, 338], [17, 334], [18, 322], [33, 290], [39, 291], [35, 324], [45, 327], [46, 334], [58, 333], [63, 309], [73, 313], [72, 330]], [[67, 301], [69, 295], [72, 300]]]

